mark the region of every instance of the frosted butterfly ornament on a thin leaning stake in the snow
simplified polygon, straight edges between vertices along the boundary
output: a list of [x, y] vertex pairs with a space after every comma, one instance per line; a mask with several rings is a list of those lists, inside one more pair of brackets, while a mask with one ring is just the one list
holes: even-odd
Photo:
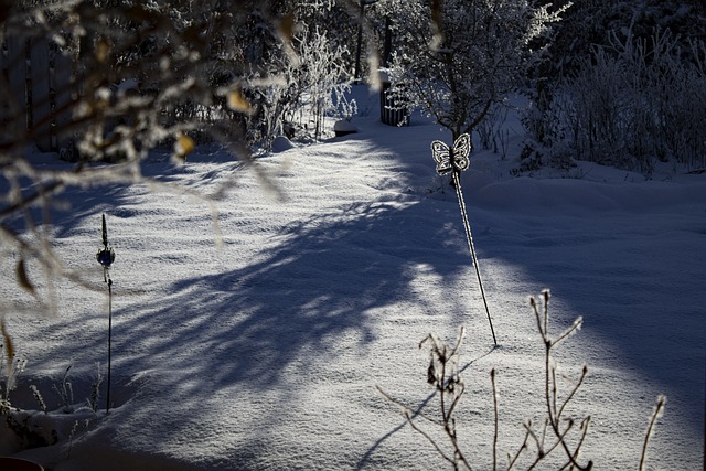
[[468, 222], [463, 192], [461, 191], [461, 171], [468, 169], [470, 165], [469, 156], [471, 153], [471, 137], [468, 133], [459, 136], [456, 142], [453, 142], [453, 147], [451, 149], [441, 141], [431, 142], [431, 156], [437, 162], [437, 173], [440, 175], [451, 173], [451, 178], [453, 179], [453, 186], [456, 188], [456, 195], [459, 199], [459, 207], [461, 208], [461, 216], [463, 218], [463, 227], [466, 228], [468, 248], [471, 251], [471, 258], [473, 260], [473, 266], [475, 267], [478, 285], [481, 289], [483, 304], [485, 306], [488, 322], [490, 322], [490, 331], [493, 334], [493, 343], [498, 346], [495, 330], [493, 329], [493, 321], [490, 317], [490, 309], [488, 309], [488, 300], [485, 299], [485, 291], [483, 290], [483, 281], [481, 280], [481, 271], [478, 267], [478, 257], [475, 257], [475, 248], [473, 247], [473, 236], [471, 235], [471, 225]]

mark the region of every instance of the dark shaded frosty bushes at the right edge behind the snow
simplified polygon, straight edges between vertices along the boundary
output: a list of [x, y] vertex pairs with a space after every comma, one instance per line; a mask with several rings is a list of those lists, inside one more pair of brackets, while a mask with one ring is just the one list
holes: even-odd
[[588, 160], [645, 175], [657, 160], [706, 167], [706, 43], [687, 45], [670, 30], [649, 40], [613, 32], [528, 109], [524, 164]]

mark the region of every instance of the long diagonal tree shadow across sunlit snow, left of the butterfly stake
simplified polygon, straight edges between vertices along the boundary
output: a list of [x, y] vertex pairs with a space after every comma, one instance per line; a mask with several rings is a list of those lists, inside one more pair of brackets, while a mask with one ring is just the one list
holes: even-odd
[[[366, 354], [377, 321], [367, 312], [408, 300], [416, 266], [431, 267], [441, 277], [469, 269], [467, 257], [448, 256], [449, 244], [464, 249], [461, 227], [453, 235], [458, 244], [448, 242], [443, 221], [456, 217], [453, 206], [431, 214], [418, 195], [352, 203], [282, 227], [276, 243], [253, 259], [231, 264], [233, 251], [225, 242], [218, 251], [224, 270], [180, 276], [160, 289], [159, 297], [128, 300], [139, 302], [138, 312], [120, 299], [126, 281], [114, 277], [113, 395], [137, 392], [135, 375], [149, 372], [170, 390], [154, 400], [168, 400], [165, 407], [182, 417], [205, 407], [199, 400], [215, 400], [231, 387], [279, 390], [282, 407], [295, 404], [300, 385], [292, 383], [290, 366], [315, 371], [322, 361]], [[376, 243], [371, 245], [371, 239]], [[459, 314], [451, 315], [462, 315], [467, 309], [460, 299], [456, 302]], [[83, 321], [98, 322], [103, 315], [98, 311]], [[75, 320], [58, 321], [40, 329], [38, 336], [71, 338], [76, 328]], [[344, 336], [356, 339], [357, 347], [336, 349]], [[87, 339], [82, 349], [103, 352], [105, 338]], [[45, 352], [33, 363], [54, 355]], [[265, 424], [275, 422], [277, 411], [271, 414]], [[188, 427], [174, 420], [168, 433], [188, 433]]]

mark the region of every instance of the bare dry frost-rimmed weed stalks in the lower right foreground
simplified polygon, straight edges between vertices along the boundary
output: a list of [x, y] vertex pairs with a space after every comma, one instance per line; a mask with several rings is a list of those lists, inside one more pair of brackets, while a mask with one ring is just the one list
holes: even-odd
[[[521, 465], [521, 458], [525, 457], [531, 449], [534, 449], [535, 454], [530, 457], [526, 462], [526, 469], [538, 469], [547, 464], [547, 458], [560, 457], [563, 453], [565, 457], [558, 469], [569, 470], [592, 470], [593, 461], [588, 460], [584, 462], [580, 460], [579, 453], [584, 446], [589, 424], [590, 415], [586, 415], [580, 418], [570, 417], [568, 413], [568, 406], [574, 400], [579, 388], [584, 385], [584, 382], [588, 374], [588, 368], [584, 366], [581, 368], [580, 376], [568, 392], [560, 392], [557, 385], [557, 363], [554, 360], [553, 352], [555, 349], [564, 342], [567, 338], [576, 333], [582, 323], [581, 318], [578, 318], [566, 330], [564, 330], [558, 336], [552, 338], [549, 335], [549, 291], [542, 292], [542, 303], [538, 303], [535, 298], [531, 298], [530, 304], [532, 307], [535, 320], [537, 322], [537, 330], [542, 342], [545, 346], [544, 350], [544, 422], [539, 427], [539, 430], [535, 429], [535, 426], [531, 420], [525, 421], [523, 425], [525, 429], [524, 439], [514, 454], [507, 453], [507, 464], [505, 470], [517, 469]], [[418, 433], [420, 433], [437, 452], [449, 462], [454, 470], [466, 469], [472, 470], [470, 461], [467, 459], [458, 431], [456, 421], [456, 411], [463, 393], [466, 392], [466, 385], [460, 376], [460, 346], [463, 339], [463, 328], [461, 328], [456, 344], [453, 346], [446, 345], [442, 341], [435, 335], [427, 335], [420, 343], [419, 347], [425, 345], [430, 346], [430, 361], [427, 370], [427, 382], [434, 387], [431, 397], [438, 396], [439, 416], [429, 416], [422, 411], [425, 404], [431, 398], [428, 398], [420, 407], [413, 408], [399, 399], [394, 398], [379, 386], [377, 389], [381, 394], [391, 403], [396, 404], [403, 410], [403, 415], [407, 420], [407, 424]], [[496, 372], [492, 368], [490, 372], [492, 394], [493, 394], [493, 441], [492, 441], [492, 457], [493, 457], [493, 471], [498, 470], [498, 437], [499, 437], [499, 398], [496, 388]], [[664, 404], [664, 396], [660, 396], [654, 413], [651, 416], [650, 426], [644, 438], [644, 446], [642, 450], [642, 457], [640, 461], [640, 470], [644, 469], [646, 448], [649, 440], [652, 436], [654, 425], [657, 418], [661, 416]], [[421, 424], [427, 424], [422, 426]], [[442, 433], [448, 438], [449, 447], [442, 446], [434, 436], [428, 431], [428, 427], [441, 429]], [[560, 458], [557, 458], [560, 459]]]

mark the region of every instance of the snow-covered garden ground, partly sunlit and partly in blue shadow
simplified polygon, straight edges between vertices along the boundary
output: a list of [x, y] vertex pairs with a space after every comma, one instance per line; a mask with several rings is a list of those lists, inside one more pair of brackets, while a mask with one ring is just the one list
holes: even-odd
[[[57, 196], [69, 206], [52, 216], [54, 247], [96, 289], [58, 280], [56, 317], [8, 317], [28, 361], [11, 398], [58, 442], [18, 452], [3, 428], [3, 452], [56, 471], [446, 469], [376, 386], [438, 418], [418, 345], [429, 333], [452, 344], [464, 327], [459, 440], [474, 469], [492, 469], [495, 368], [504, 469], [523, 422], [541, 430], [546, 409], [528, 298], [549, 288], [553, 335], [584, 319], [556, 351], [564, 396], [588, 365], [567, 410], [591, 417], [580, 459], [637, 469], [664, 394], [646, 469], [703, 468], [706, 175], [581, 164], [514, 176], [522, 129], [510, 119], [507, 159], [477, 149], [462, 174], [494, 347], [456, 193], [429, 149], [450, 136], [416, 115], [385, 126], [362, 92], [357, 133], [255, 167], [216, 147], [184, 165], [154, 152], [147, 175], [204, 195], [226, 185], [217, 226], [203, 201], [142, 184]], [[85, 407], [96, 365], [106, 374], [101, 213], [116, 250], [109, 414], [105, 381], [101, 409]], [[12, 277], [0, 296], [30, 302]], [[68, 366], [71, 414], [55, 390]]]

